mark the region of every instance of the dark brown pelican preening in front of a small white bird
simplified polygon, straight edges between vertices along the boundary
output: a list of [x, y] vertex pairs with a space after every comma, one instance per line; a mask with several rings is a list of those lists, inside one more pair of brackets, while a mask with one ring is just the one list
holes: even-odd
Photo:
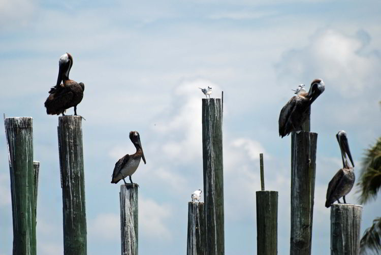
[[325, 85], [323, 80], [312, 81], [308, 93], [298, 93], [292, 97], [279, 114], [279, 136], [282, 138], [292, 131], [300, 131], [303, 122], [308, 117], [308, 108], [323, 93]]

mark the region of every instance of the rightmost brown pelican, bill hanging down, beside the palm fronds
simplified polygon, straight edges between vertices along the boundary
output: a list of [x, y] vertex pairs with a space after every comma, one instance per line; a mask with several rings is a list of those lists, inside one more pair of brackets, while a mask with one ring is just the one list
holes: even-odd
[[[353, 184], [355, 183], [355, 173], [351, 151], [348, 145], [348, 139], [346, 138], [345, 131], [341, 130], [336, 135], [337, 141], [340, 146], [341, 160], [343, 167], [333, 176], [332, 180], [328, 184], [326, 207], [330, 207], [335, 200], [340, 204], [340, 198], [342, 197], [345, 202], [345, 195], [348, 194]], [[353, 167], [350, 167], [346, 159], [346, 155], [350, 158]], [[345, 161], [344, 161], [345, 158]]]

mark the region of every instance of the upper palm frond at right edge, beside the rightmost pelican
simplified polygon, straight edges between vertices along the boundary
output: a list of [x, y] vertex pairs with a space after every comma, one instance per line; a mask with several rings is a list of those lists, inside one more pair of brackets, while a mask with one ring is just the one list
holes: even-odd
[[381, 187], [381, 137], [374, 146], [365, 151], [357, 187], [361, 204], [376, 199], [377, 192]]

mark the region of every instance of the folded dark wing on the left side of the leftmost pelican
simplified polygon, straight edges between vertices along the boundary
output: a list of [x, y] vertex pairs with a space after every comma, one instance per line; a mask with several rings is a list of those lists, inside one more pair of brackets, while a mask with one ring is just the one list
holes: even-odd
[[49, 90], [49, 97], [45, 101], [47, 114], [61, 114], [68, 108], [73, 99], [73, 92], [63, 85], [54, 86]]

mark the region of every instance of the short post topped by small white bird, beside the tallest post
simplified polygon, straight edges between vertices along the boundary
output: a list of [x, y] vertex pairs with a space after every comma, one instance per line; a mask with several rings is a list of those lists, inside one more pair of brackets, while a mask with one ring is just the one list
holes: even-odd
[[204, 202], [188, 202], [187, 255], [205, 255]]

